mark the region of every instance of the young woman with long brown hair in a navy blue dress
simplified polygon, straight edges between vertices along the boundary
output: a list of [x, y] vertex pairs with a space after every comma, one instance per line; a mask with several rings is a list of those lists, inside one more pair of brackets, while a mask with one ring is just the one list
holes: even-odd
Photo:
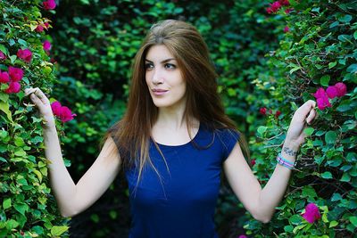
[[245, 209], [269, 222], [286, 191], [303, 128], [316, 115], [315, 102], [295, 111], [277, 167], [262, 189], [245, 160], [243, 136], [224, 114], [217, 75], [195, 27], [172, 20], [155, 24], [132, 74], [127, 112], [108, 130], [102, 151], [77, 185], [63, 164], [46, 95], [38, 88], [26, 90], [46, 120], [46, 158], [62, 216], [87, 209], [125, 169], [129, 237], [218, 237], [213, 214], [223, 168]]

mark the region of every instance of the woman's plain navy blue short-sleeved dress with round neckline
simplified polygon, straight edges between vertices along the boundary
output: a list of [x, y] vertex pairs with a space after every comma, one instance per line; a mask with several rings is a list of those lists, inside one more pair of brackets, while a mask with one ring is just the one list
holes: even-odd
[[237, 139], [233, 130], [213, 133], [201, 123], [192, 142], [158, 144], [169, 170], [151, 141], [149, 155], [161, 177], [148, 165], [137, 185], [137, 168], [125, 171], [132, 216], [129, 238], [218, 238], [213, 216], [220, 172]]

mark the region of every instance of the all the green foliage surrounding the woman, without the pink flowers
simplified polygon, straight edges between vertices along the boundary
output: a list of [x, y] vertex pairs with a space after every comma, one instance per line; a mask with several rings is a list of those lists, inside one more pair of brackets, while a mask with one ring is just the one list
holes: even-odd
[[[262, 185], [275, 167], [295, 109], [313, 99], [320, 86], [347, 86], [347, 94], [319, 111], [307, 130], [297, 170], [269, 224], [254, 221], [223, 182], [216, 212], [220, 237], [353, 236], [355, 1], [290, 1], [274, 14], [266, 11], [271, 2], [253, 0], [56, 3], [48, 12], [41, 1], [0, 2], [0, 51], [7, 56], [0, 70], [21, 67], [23, 88], [38, 86], [77, 113], [76, 119], [58, 123], [75, 182], [95, 160], [105, 130], [125, 111], [130, 65], [145, 32], [156, 21], [179, 19], [194, 24], [207, 42], [227, 113], [249, 141], [253, 172]], [[46, 19], [51, 21], [48, 31], [33, 30]], [[42, 49], [44, 39], [53, 45], [50, 55]], [[26, 47], [34, 52], [30, 63], [16, 57]], [[71, 220], [59, 216], [47, 179], [41, 119], [23, 91], [4, 94], [4, 88], [2, 84], [0, 236], [126, 237], [129, 201], [122, 175], [90, 209]], [[265, 114], [260, 113], [263, 107]], [[316, 203], [322, 214], [314, 224], [301, 217], [308, 202]]]

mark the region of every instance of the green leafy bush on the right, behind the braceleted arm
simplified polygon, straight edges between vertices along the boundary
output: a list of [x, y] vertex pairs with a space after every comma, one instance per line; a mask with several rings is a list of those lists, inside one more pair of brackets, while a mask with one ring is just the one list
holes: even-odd
[[[300, 3], [301, 2], [301, 3]], [[319, 87], [344, 82], [347, 94], [330, 100], [332, 107], [318, 110], [319, 118], [306, 129], [308, 138], [298, 155], [284, 201], [268, 225], [248, 221], [253, 237], [352, 237], [356, 231], [356, 46], [355, 3], [291, 1], [293, 12], [282, 15], [289, 32], [269, 57], [270, 72], [257, 84], [269, 85], [270, 107], [282, 118], [269, 116], [258, 127], [261, 154], [255, 174], [267, 180], [284, 140], [291, 115]], [[273, 17], [273, 15], [271, 16]], [[278, 71], [278, 73], [277, 73]], [[270, 162], [267, 162], [270, 161]], [[309, 224], [301, 214], [309, 202], [320, 208], [321, 219]]]

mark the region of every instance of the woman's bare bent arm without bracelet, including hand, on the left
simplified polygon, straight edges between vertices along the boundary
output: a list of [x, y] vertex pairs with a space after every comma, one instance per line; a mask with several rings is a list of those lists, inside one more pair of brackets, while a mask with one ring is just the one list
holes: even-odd
[[50, 161], [50, 183], [57, 204], [63, 217], [73, 217], [97, 201], [112, 184], [120, 170], [119, 152], [109, 136], [93, 165], [76, 185], [62, 160], [60, 141], [48, 98], [38, 88], [27, 89], [26, 94], [30, 94], [31, 101], [37, 105], [46, 121], [43, 130], [45, 155]]

